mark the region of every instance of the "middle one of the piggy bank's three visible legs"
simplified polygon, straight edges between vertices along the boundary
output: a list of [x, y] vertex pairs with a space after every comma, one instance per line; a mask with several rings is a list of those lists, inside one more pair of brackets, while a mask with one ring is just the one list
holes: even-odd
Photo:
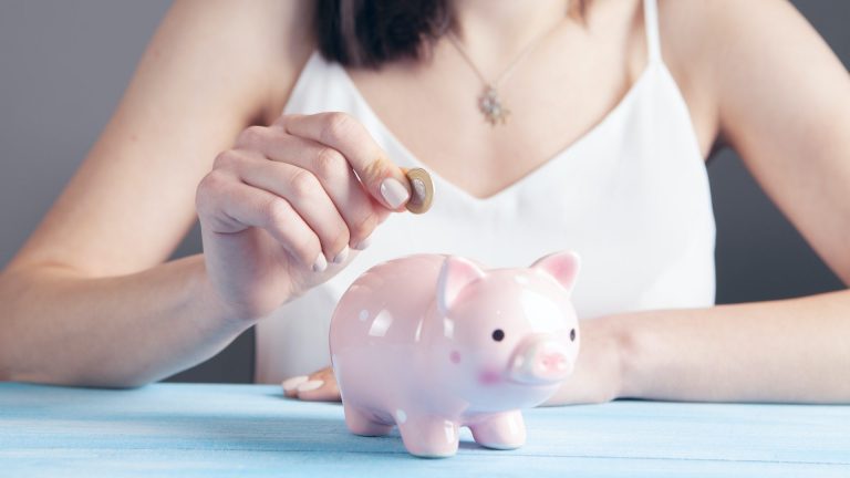
[[411, 455], [443, 458], [457, 454], [460, 437], [454, 422], [434, 416], [405, 416], [396, 413], [396, 424], [404, 447]]

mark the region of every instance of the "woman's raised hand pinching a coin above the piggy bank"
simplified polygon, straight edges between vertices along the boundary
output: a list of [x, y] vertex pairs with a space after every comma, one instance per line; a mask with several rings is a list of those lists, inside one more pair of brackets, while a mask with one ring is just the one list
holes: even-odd
[[200, 181], [207, 276], [228, 313], [257, 320], [335, 274], [410, 198], [404, 173], [344, 113], [245, 129]]

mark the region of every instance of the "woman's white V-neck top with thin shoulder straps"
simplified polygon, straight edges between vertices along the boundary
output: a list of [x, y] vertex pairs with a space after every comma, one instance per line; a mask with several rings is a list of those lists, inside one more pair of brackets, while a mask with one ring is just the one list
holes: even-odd
[[[432, 172], [428, 212], [392, 215], [348, 268], [257, 325], [256, 380], [276, 383], [328, 366], [331, 314], [349, 284], [379, 262], [417, 252], [518, 267], [574, 250], [582, 270], [573, 303], [582, 319], [714, 304], [715, 224], [705, 162], [661, 58], [655, 0], [644, 1], [644, 18], [647, 65], [593, 129], [485, 199]], [[345, 70], [313, 53], [284, 113], [329, 111], [362, 122], [398, 166], [427, 168], [381, 122]]]

